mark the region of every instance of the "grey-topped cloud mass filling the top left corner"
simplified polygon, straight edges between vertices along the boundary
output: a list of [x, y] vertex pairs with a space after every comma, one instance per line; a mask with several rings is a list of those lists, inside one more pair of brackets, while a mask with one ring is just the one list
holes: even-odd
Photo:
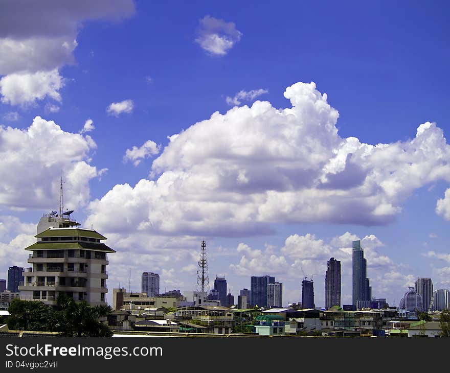
[[0, 5], [0, 94], [3, 103], [32, 104], [46, 96], [60, 101], [59, 68], [75, 62], [83, 22], [119, 20], [135, 12], [132, 0], [71, 2], [6, 1]]

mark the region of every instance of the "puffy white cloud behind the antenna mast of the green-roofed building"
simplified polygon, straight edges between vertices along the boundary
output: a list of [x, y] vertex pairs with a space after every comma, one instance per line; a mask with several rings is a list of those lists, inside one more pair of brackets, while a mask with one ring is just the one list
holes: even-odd
[[54, 208], [58, 179], [64, 174], [65, 204], [76, 208], [89, 200], [89, 180], [99, 171], [88, 164], [96, 148], [92, 138], [65, 132], [40, 116], [30, 127], [0, 126], [0, 205]]

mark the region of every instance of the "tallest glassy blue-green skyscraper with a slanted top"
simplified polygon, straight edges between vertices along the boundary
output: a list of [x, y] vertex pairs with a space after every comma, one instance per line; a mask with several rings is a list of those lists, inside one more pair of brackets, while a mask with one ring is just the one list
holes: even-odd
[[367, 261], [364, 258], [364, 250], [361, 247], [361, 241], [352, 242], [352, 284], [353, 284], [353, 305], [357, 305], [358, 300], [364, 302], [372, 299], [372, 288], [369, 278], [367, 278]]

